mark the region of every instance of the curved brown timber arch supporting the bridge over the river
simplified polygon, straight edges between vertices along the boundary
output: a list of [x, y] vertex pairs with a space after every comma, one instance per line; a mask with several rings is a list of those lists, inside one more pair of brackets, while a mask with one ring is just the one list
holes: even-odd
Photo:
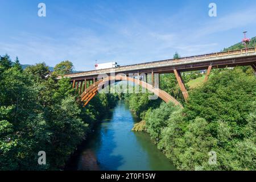
[[104, 89], [104, 85], [108, 85], [110, 83], [114, 83], [115, 81], [131, 81], [138, 85], [141, 85], [142, 88], [146, 88], [150, 92], [154, 93], [156, 96], [160, 97], [164, 102], [173, 102], [175, 105], [180, 106], [183, 108], [183, 106], [180, 104], [179, 101], [177, 101], [174, 97], [170, 96], [167, 92], [164, 90], [161, 90], [159, 88], [154, 88], [152, 85], [148, 84], [147, 82], [138, 80], [137, 78], [127, 77], [127, 76], [109, 76], [102, 78], [101, 80], [98, 80], [97, 82], [94, 82], [94, 84], [90, 85], [82, 94], [81, 94], [81, 101], [84, 102], [84, 106], [86, 106], [90, 100], [98, 92], [100, 92], [102, 89]]

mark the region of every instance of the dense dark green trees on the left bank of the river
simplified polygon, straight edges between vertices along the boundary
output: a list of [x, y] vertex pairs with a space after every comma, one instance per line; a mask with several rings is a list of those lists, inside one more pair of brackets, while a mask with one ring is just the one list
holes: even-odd
[[[86, 109], [68, 78], [58, 82], [44, 63], [22, 69], [0, 57], [0, 169], [60, 169], [116, 98], [99, 94]], [[38, 152], [46, 152], [46, 165]]]

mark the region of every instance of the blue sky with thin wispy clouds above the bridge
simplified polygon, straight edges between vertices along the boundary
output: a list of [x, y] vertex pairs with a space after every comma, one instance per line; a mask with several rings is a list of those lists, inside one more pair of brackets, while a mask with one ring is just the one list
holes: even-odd
[[[38, 4], [46, 4], [46, 17]], [[209, 17], [209, 3], [217, 17]], [[256, 1], [0, 0], [0, 55], [22, 64], [70, 60], [78, 71], [220, 51], [256, 36]]]

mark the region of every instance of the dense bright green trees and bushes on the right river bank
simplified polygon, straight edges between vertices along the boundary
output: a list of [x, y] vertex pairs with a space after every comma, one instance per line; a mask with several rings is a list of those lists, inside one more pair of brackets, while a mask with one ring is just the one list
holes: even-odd
[[[136, 105], [136, 100], [130, 102]], [[171, 103], [162, 103], [156, 109], [143, 111], [142, 118], [152, 140], [178, 169], [256, 168], [254, 74], [241, 68], [214, 72], [207, 83], [189, 92], [184, 107], [181, 110]], [[216, 164], [209, 163], [210, 152], [216, 152]]]

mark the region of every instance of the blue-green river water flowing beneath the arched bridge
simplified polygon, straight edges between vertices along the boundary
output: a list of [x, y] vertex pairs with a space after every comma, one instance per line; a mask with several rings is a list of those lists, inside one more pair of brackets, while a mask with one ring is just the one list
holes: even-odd
[[117, 106], [71, 159], [71, 170], [176, 170], [143, 132], [131, 131], [138, 122], [129, 106]]

